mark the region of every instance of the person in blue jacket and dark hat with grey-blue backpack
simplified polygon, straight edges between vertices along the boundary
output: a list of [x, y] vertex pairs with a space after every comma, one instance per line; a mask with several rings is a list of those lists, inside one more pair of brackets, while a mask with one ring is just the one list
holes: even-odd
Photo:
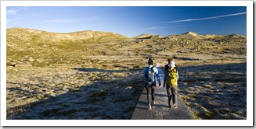
[[147, 102], [149, 103], [149, 110], [152, 110], [151, 108], [151, 98], [152, 103], [154, 104], [154, 92], [156, 88], [156, 76], [157, 81], [159, 83], [159, 87], [161, 87], [160, 77], [158, 74], [157, 68], [153, 67], [153, 60], [152, 58], [149, 58], [149, 67], [146, 67], [144, 69], [144, 76], [146, 78], [145, 88], [146, 88], [146, 95], [147, 95]]

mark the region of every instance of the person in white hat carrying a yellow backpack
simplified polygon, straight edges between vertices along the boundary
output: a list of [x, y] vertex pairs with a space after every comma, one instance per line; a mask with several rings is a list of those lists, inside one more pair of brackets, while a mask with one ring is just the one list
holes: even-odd
[[175, 61], [170, 61], [168, 69], [164, 71], [164, 87], [166, 85], [168, 95], [168, 106], [171, 108], [171, 99], [174, 108], [177, 106], [177, 88], [178, 88], [178, 70], [175, 66]]

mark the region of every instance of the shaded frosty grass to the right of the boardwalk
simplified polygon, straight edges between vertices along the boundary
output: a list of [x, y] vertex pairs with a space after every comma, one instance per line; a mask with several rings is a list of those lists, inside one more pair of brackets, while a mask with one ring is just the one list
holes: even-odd
[[246, 63], [179, 69], [179, 93], [197, 119], [247, 118]]

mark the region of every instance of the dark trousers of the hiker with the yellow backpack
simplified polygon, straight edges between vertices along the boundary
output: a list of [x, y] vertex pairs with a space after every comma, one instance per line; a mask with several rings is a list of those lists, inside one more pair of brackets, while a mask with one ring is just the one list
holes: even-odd
[[166, 84], [166, 90], [168, 95], [168, 105], [171, 105], [171, 99], [173, 104], [177, 103], [177, 87], [178, 85], [175, 85], [172, 87]]

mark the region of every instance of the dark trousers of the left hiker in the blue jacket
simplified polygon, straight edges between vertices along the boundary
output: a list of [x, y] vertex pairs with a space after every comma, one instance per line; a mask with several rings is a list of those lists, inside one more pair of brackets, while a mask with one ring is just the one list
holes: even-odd
[[155, 99], [155, 88], [156, 88], [156, 83], [155, 82], [150, 82], [145, 84], [146, 88], [146, 96], [147, 96], [147, 103], [151, 103], [151, 98], [152, 101]]

